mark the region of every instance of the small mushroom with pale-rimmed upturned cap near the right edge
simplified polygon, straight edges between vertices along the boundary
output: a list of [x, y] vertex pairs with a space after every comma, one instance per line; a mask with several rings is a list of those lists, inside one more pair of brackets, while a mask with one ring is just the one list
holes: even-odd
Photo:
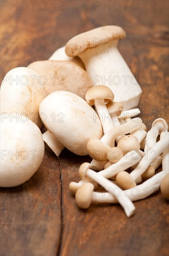
[[167, 131], [168, 125], [163, 118], [157, 118], [153, 123], [150, 131], [147, 133], [144, 152], [156, 144], [156, 138], [162, 132]]

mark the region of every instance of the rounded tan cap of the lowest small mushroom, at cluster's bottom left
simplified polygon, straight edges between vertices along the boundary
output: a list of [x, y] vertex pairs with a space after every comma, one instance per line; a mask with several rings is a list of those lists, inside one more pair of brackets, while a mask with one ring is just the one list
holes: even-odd
[[88, 209], [92, 202], [94, 184], [84, 183], [75, 194], [75, 201], [81, 209]]

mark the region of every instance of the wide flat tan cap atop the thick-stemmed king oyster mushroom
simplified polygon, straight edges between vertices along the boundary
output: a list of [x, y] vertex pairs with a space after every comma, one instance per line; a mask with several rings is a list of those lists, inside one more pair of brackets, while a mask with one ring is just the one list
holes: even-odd
[[[65, 47], [68, 56], [77, 56], [87, 49], [103, 45], [108, 40], [125, 38], [125, 31], [118, 26], [97, 27], [71, 38]], [[101, 39], [97, 45], [94, 39]]]

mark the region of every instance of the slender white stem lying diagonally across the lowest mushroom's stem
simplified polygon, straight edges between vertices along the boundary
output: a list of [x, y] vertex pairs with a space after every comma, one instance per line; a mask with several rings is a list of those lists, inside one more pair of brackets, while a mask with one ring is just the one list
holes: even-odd
[[[120, 189], [117, 185], [112, 183], [111, 181], [107, 180], [103, 176], [101, 176], [99, 173], [96, 173], [95, 171], [88, 169], [85, 172], [85, 175], [87, 175], [89, 178], [93, 179], [97, 183], [100, 184], [106, 191], [110, 192], [111, 195], [114, 195], [120, 205], [124, 208], [125, 214], [127, 217], [130, 217], [135, 212], [135, 206], [131, 202], [131, 200], [125, 196], [125, 193], [122, 189]], [[116, 195], [116, 192], [118, 190], [118, 195]]]

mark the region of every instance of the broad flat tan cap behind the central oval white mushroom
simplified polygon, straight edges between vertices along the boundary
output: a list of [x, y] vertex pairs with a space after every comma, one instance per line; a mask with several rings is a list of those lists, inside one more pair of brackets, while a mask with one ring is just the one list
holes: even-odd
[[88, 73], [71, 61], [35, 61], [29, 66], [39, 76], [45, 76], [44, 87], [47, 95], [55, 91], [68, 91], [85, 100], [85, 94], [93, 87]]

